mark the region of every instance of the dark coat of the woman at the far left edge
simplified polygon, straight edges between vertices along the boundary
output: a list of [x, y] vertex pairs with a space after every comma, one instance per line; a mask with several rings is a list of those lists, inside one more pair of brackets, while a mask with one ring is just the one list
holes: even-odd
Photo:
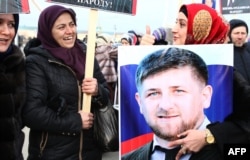
[[24, 65], [23, 53], [16, 46], [11, 55], [0, 61], [0, 159], [3, 160], [23, 159]]

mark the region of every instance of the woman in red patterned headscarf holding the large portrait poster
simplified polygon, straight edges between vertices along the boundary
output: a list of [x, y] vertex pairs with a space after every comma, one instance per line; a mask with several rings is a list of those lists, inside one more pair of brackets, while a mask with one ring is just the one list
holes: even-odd
[[[223, 44], [227, 43], [229, 24], [214, 9], [204, 4], [189, 4], [180, 7], [176, 24], [172, 29], [173, 44]], [[147, 28], [147, 33], [150, 30]], [[147, 34], [143, 37], [143, 44], [152, 44], [154, 37]], [[212, 136], [223, 155], [226, 143], [249, 143], [249, 104], [250, 87], [242, 76], [234, 71], [234, 104], [233, 113], [224, 122], [212, 123], [208, 130], [188, 130], [178, 135], [184, 137], [169, 146], [184, 146], [177, 154], [177, 159], [188, 152], [198, 152], [209, 143], [206, 134]], [[208, 132], [207, 132], [208, 131]]]

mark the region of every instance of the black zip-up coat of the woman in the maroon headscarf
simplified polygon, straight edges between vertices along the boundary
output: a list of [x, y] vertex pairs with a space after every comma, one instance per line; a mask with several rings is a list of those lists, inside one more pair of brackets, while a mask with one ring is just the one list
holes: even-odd
[[[85, 54], [86, 48], [83, 45]], [[25, 46], [27, 103], [23, 118], [30, 128], [29, 160], [96, 159], [98, 146], [93, 139], [93, 128], [82, 130], [81, 82], [74, 71], [54, 58], [37, 39]], [[84, 64], [83, 64], [84, 65]], [[99, 96], [92, 97], [91, 108], [108, 103], [108, 89], [97, 61], [94, 77], [98, 80]], [[97, 154], [88, 156], [91, 151]]]

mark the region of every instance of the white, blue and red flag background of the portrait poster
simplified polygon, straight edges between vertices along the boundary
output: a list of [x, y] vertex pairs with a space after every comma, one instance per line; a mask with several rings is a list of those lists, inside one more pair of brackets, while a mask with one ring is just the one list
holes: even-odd
[[213, 87], [212, 101], [205, 114], [211, 122], [223, 121], [232, 112], [233, 45], [132, 46], [118, 48], [120, 154], [129, 153], [152, 141], [148, 127], [135, 100], [135, 71], [147, 54], [169, 47], [183, 48], [200, 55], [208, 67], [208, 83]]

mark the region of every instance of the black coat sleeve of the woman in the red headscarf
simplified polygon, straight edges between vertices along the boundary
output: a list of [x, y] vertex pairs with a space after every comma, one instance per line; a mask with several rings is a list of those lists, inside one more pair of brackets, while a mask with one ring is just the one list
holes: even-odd
[[207, 126], [223, 152], [224, 144], [250, 143], [250, 85], [234, 71], [233, 113], [224, 122]]

